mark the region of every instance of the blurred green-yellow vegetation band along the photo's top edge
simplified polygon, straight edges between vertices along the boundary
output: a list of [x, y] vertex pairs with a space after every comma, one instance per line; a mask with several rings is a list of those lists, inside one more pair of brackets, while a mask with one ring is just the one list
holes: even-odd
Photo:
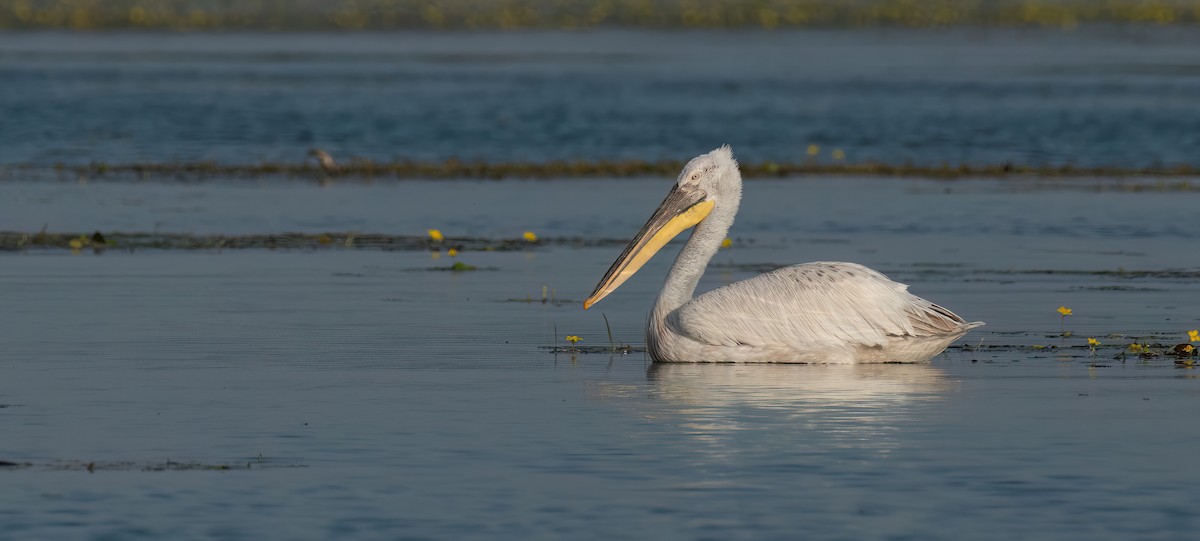
[[0, 29], [389, 30], [1189, 24], [1194, 0], [0, 0]]

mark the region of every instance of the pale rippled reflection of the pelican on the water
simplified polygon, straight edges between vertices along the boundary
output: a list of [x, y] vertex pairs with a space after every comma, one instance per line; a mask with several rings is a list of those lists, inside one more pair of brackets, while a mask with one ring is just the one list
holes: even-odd
[[680, 426], [714, 446], [767, 428], [809, 433], [798, 440], [821, 446], [887, 450], [898, 425], [953, 389], [930, 365], [655, 363], [647, 377]]

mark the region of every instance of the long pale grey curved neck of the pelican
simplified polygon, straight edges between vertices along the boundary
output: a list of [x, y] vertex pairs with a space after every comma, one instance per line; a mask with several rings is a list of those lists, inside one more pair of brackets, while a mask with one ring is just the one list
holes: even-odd
[[718, 200], [713, 206], [713, 212], [696, 224], [688, 244], [679, 251], [676, 262], [667, 272], [667, 281], [659, 291], [659, 299], [654, 303], [654, 319], [665, 318], [676, 308], [691, 300], [696, 293], [696, 284], [704, 275], [704, 268], [713, 259], [716, 251], [721, 248], [733, 217], [738, 214], [738, 198], [732, 200]]

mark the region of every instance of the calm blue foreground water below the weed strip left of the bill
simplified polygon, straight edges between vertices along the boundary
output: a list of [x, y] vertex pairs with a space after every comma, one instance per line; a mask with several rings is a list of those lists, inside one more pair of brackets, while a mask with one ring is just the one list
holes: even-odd
[[[424, 253], [5, 257], [0, 293], [20, 309], [0, 317], [0, 451], [34, 465], [0, 471], [0, 537], [1183, 540], [1198, 525], [1181, 458], [1200, 444], [1194, 371], [1086, 349], [874, 367], [541, 349], [554, 325], [604, 344], [604, 324], [574, 302], [502, 301], [546, 282], [578, 296], [608, 252], [476, 253], [500, 270], [463, 275], [406, 270]], [[618, 341], [640, 343], [654, 282], [598, 307]], [[1057, 302], [1080, 332], [1182, 315], [1177, 295], [1106, 306], [1062, 282], [914, 288], [989, 319], [995, 333], [968, 337], [989, 344], [1056, 331]], [[142, 471], [164, 461], [250, 469]]]

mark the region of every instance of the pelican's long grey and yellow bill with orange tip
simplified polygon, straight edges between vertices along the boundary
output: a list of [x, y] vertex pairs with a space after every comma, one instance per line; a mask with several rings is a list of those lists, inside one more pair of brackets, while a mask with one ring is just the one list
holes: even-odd
[[600, 278], [592, 296], [583, 301], [583, 309], [600, 302], [600, 299], [625, 283], [671, 239], [704, 220], [713, 211], [713, 202], [704, 200], [704, 192], [676, 185], [666, 199], [662, 199], [662, 204], [654, 211], [650, 220], [646, 222], [646, 226], [642, 226], [642, 230], [637, 232], [637, 236], [629, 241], [625, 251], [608, 268], [604, 278]]

